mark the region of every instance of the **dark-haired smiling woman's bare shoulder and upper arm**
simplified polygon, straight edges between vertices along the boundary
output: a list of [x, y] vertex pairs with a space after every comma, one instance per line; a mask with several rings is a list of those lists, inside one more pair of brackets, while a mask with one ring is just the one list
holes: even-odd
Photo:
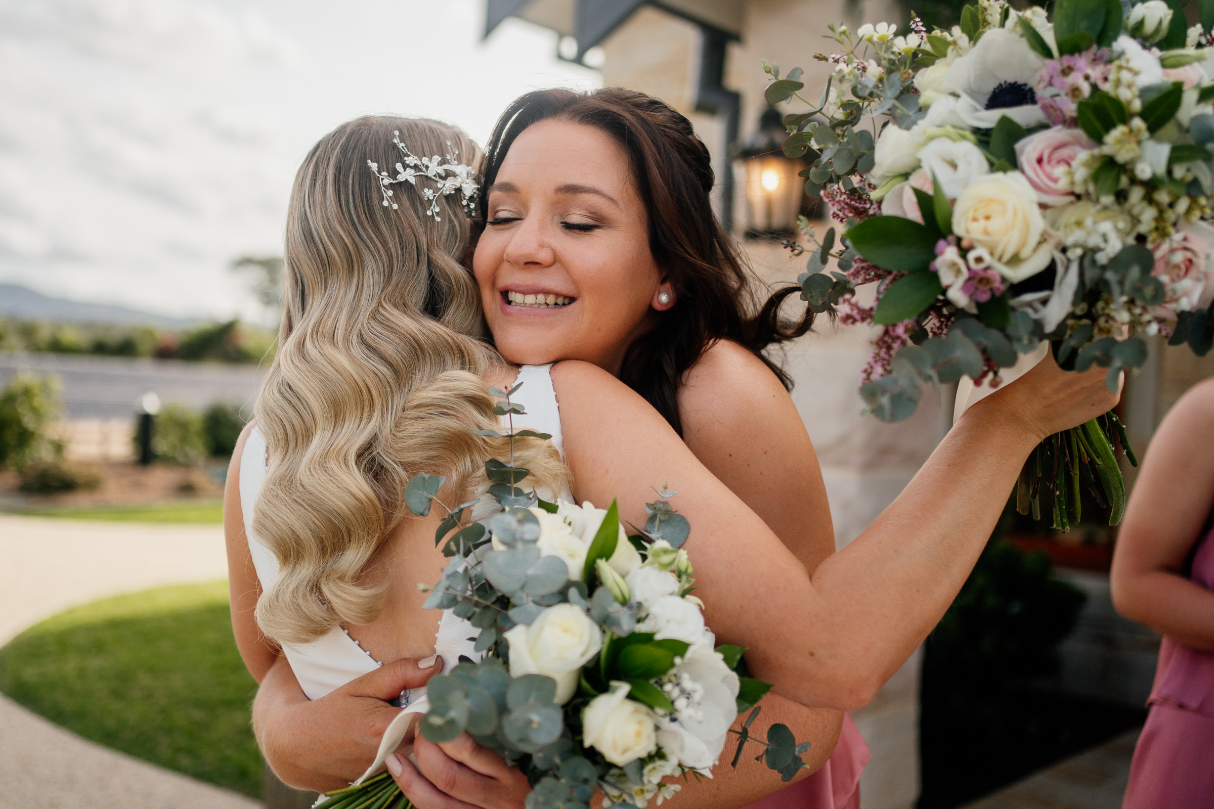
[[[813, 443], [762, 360], [721, 341], [679, 388], [683, 443], [810, 572], [834, 553], [830, 503]], [[674, 485], [674, 484], [671, 484]]]

